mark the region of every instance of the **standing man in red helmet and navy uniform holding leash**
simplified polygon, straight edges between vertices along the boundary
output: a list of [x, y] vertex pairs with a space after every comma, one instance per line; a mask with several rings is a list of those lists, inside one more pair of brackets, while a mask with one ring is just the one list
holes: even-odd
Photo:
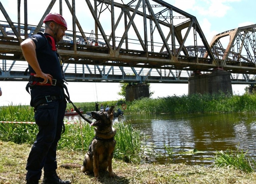
[[66, 35], [67, 23], [57, 13], [49, 13], [43, 22], [44, 33], [37, 33], [20, 44], [29, 64], [30, 78], [26, 89], [29, 92], [30, 87], [30, 105], [34, 107], [39, 130], [27, 160], [26, 181], [27, 184], [38, 184], [44, 168], [42, 184], [70, 184], [56, 173], [56, 148], [62, 127], [65, 131], [63, 118], [67, 106], [63, 89], [65, 76], [56, 42]]

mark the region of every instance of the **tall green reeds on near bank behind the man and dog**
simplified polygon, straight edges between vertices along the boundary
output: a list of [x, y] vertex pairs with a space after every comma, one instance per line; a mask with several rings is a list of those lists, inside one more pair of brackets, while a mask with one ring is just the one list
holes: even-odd
[[[87, 151], [95, 134], [93, 127], [88, 123], [66, 124], [66, 130], [58, 142], [58, 149]], [[143, 134], [138, 129], [133, 129], [131, 124], [115, 122], [117, 141], [114, 158], [125, 162], [140, 162], [143, 152]], [[35, 141], [38, 126], [36, 124], [11, 124], [0, 123], [0, 140], [17, 144], [27, 143], [32, 145]]]

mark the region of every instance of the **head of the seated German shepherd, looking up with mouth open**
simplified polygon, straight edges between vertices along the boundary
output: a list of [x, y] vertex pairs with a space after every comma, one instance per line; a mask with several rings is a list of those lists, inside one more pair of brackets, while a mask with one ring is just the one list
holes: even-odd
[[114, 107], [115, 106], [111, 106], [108, 111], [104, 110], [103, 112], [91, 112], [92, 117], [96, 119], [96, 121], [92, 122], [91, 125], [97, 127], [111, 125], [114, 118]]

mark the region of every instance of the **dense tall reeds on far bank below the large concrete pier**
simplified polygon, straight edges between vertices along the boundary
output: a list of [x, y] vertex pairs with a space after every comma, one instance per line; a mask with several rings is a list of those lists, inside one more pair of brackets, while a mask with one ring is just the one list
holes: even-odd
[[191, 94], [126, 102], [125, 113], [256, 112], [256, 95]]

